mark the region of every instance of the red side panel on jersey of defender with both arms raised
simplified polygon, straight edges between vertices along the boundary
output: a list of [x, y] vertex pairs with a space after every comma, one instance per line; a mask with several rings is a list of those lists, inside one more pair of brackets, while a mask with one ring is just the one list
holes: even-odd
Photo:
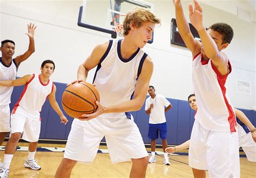
[[227, 106], [227, 110], [228, 110], [228, 123], [230, 124], [230, 131], [231, 132], [236, 132], [235, 131], [235, 126], [237, 126], [237, 121], [235, 120], [235, 114], [234, 114], [234, 111], [231, 107], [231, 105], [228, 103], [227, 101], [227, 97], [226, 97], [226, 87], [225, 87], [225, 83], [226, 83], [226, 79], [227, 79], [227, 76], [228, 74], [231, 72], [232, 68], [231, 68], [231, 64], [230, 64], [230, 61], [228, 61], [228, 68], [229, 68], [229, 73], [226, 74], [225, 76], [221, 76], [219, 70], [217, 69], [217, 67], [215, 67], [211, 61], [211, 65], [212, 65], [212, 69], [213, 71], [217, 74], [217, 79], [218, 79], [218, 83], [220, 85], [220, 88], [221, 88], [221, 92], [223, 94], [223, 98], [225, 100], [225, 104]]

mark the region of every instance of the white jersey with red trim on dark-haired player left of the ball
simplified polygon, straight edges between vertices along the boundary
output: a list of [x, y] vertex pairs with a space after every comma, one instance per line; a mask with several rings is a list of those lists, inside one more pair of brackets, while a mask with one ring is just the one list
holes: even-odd
[[40, 112], [42, 106], [53, 90], [53, 82], [49, 79], [47, 84], [44, 84], [40, 78], [40, 74], [33, 74], [33, 77], [28, 83], [19, 97], [18, 102], [12, 110], [14, 113], [24, 113], [33, 120], [41, 120]]

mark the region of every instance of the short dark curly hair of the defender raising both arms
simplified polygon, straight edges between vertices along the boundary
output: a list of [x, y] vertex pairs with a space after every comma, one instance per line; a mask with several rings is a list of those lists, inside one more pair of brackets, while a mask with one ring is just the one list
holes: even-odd
[[226, 23], [215, 23], [212, 24], [209, 29], [212, 29], [214, 31], [218, 31], [221, 35], [223, 35], [223, 42], [222, 44], [231, 43], [231, 40], [234, 36], [234, 31], [232, 27]]

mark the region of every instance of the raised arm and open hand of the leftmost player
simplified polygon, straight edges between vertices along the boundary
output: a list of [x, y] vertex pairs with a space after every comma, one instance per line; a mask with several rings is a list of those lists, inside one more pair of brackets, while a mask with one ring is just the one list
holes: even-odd
[[35, 35], [35, 29], [37, 26], [34, 24], [28, 24], [28, 33], [26, 35], [29, 36], [29, 49], [22, 55], [17, 56], [14, 60], [17, 64], [17, 67], [19, 64], [22, 63], [22, 61], [28, 59], [33, 52], [35, 52], [35, 40], [34, 40], [34, 35]]

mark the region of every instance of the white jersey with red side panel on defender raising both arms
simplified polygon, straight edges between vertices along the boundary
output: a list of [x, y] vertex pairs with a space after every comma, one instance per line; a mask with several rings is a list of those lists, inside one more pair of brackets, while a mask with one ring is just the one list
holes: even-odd
[[[228, 74], [231, 70], [228, 61]], [[221, 76], [211, 59], [203, 61], [201, 53], [193, 58], [192, 83], [198, 106], [195, 119], [210, 131], [236, 132], [237, 121], [225, 87], [228, 74]]]

